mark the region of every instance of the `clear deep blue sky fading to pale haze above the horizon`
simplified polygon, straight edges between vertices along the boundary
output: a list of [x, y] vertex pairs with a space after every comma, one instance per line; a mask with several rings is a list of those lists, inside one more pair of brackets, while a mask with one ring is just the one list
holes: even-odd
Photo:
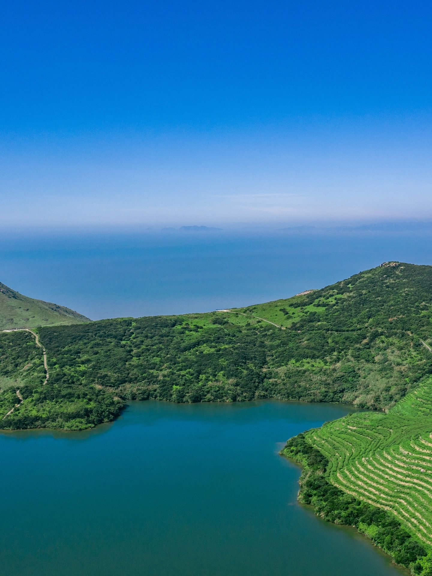
[[0, 225], [432, 218], [429, 2], [14, 2]]

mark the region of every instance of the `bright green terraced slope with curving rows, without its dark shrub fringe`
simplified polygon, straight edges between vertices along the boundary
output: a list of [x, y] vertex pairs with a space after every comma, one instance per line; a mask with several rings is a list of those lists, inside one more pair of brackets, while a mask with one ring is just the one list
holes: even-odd
[[388, 414], [361, 413], [305, 434], [341, 490], [389, 510], [432, 545], [432, 378]]

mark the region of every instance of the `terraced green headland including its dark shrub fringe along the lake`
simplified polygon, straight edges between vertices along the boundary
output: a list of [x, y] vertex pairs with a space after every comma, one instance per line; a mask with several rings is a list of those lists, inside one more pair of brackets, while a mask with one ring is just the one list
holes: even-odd
[[[356, 526], [412, 574], [432, 574], [432, 378], [387, 414], [362, 412], [291, 438], [299, 499]], [[380, 511], [381, 510], [381, 511]]]

